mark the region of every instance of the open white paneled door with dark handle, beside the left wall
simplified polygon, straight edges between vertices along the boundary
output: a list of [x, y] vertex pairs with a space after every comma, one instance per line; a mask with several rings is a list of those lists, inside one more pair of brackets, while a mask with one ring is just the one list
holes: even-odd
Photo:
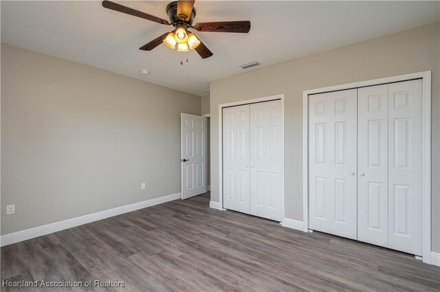
[[206, 118], [181, 114], [181, 198], [206, 193]]

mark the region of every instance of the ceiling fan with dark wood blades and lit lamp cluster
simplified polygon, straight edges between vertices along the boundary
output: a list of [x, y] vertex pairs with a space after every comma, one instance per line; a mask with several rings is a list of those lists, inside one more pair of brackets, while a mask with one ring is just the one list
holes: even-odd
[[169, 21], [161, 19], [157, 16], [147, 14], [145, 12], [126, 7], [124, 5], [104, 0], [102, 6], [111, 10], [130, 14], [133, 16], [154, 21], [162, 25], [173, 25], [175, 29], [172, 32], [166, 32], [162, 36], [158, 36], [146, 45], [139, 49], [143, 51], [151, 51], [158, 45], [164, 42], [165, 45], [177, 51], [189, 51], [195, 49], [201, 58], [206, 59], [212, 56], [212, 52], [201, 42], [195, 34], [188, 29], [195, 29], [198, 32], [239, 32], [247, 34], [250, 31], [250, 21], [219, 21], [209, 23], [196, 23], [192, 25], [195, 18], [196, 10], [194, 8], [194, 1], [179, 0], [166, 5], [166, 14], [168, 14]]

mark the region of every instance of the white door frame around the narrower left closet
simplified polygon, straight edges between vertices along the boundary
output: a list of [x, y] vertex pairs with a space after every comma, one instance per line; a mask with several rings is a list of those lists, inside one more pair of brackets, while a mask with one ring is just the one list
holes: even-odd
[[269, 97], [260, 97], [256, 99], [246, 99], [243, 101], [234, 101], [227, 104], [219, 104], [219, 210], [223, 209], [223, 108], [230, 106], [243, 106], [245, 104], [256, 104], [264, 101], [281, 100], [281, 160], [283, 161], [283, 175], [281, 175], [281, 225], [284, 225], [285, 219], [285, 160], [284, 160], [284, 95], [272, 95]]

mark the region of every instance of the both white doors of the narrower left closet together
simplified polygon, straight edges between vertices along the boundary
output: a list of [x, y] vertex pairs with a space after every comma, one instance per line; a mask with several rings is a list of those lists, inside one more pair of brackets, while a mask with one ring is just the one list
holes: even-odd
[[281, 101], [223, 108], [223, 206], [281, 221]]

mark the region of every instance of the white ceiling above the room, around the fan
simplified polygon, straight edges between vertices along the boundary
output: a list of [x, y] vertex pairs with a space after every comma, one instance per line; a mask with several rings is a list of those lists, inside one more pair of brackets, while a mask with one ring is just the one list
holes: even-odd
[[[168, 19], [167, 3], [122, 4]], [[197, 0], [195, 8], [195, 23], [250, 20], [250, 33], [198, 32], [214, 53], [202, 60], [165, 45], [140, 51], [170, 27], [102, 8], [100, 1], [1, 1], [1, 42], [206, 95], [210, 81], [245, 72], [240, 64], [258, 60], [257, 69], [440, 21], [440, 1]], [[182, 66], [181, 58], [189, 62]]]

